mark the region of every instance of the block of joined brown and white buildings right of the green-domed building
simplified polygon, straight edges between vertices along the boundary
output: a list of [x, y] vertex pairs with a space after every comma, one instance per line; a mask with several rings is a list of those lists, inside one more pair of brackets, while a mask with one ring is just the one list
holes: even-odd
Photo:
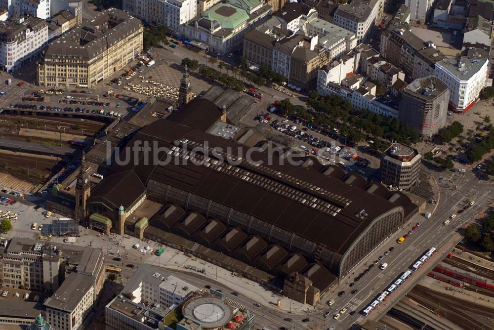
[[317, 71], [355, 48], [357, 39], [354, 33], [319, 19], [313, 9], [309, 11], [303, 4], [287, 4], [275, 17], [248, 31], [244, 36], [247, 61], [266, 65], [297, 87], [315, 88]]

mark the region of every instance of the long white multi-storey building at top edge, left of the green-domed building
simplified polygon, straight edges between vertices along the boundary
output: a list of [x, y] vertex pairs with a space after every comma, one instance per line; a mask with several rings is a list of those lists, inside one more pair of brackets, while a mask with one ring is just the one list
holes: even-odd
[[197, 15], [196, 0], [123, 0], [122, 7], [143, 21], [166, 26], [175, 34], [180, 25]]

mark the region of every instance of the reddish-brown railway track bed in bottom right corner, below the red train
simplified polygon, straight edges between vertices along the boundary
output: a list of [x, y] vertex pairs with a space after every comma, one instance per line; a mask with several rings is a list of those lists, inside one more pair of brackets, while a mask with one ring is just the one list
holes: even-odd
[[494, 330], [494, 309], [417, 285], [407, 296], [462, 329]]

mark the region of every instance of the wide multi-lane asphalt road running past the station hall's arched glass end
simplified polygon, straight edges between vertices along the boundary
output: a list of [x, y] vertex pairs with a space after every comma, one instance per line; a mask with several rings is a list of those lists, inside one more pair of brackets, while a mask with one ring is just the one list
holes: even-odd
[[[440, 200], [433, 216], [427, 220], [421, 216], [415, 216], [407, 226], [404, 226], [396, 235], [391, 237], [387, 244], [384, 244], [382, 248], [377, 249], [371, 255], [367, 264], [370, 264], [386, 249], [394, 246], [395, 249], [382, 260], [382, 262], [387, 262], [389, 265], [386, 270], [381, 271], [378, 267], [374, 267], [363, 279], [350, 288], [349, 284], [353, 282], [353, 277], [356, 277], [367, 268], [367, 265], [364, 264], [355, 270], [354, 275], [346, 278], [333, 293], [325, 297], [324, 302], [329, 299], [335, 299], [336, 302], [330, 308], [328, 306], [326, 308], [318, 306], [320, 310], [330, 310], [334, 314], [346, 307], [349, 311], [355, 310], [357, 312], [353, 316], [350, 316], [347, 312], [338, 321], [331, 319], [327, 323], [328, 327], [332, 325], [336, 326], [336, 329], [348, 329], [355, 322], [364, 321], [365, 318], [359, 312], [367, 307], [380, 292], [387, 289], [404, 271], [410, 269], [411, 265], [427, 249], [442, 247], [457, 232], [458, 228], [462, 227], [465, 222], [470, 221], [493, 202], [493, 197], [491, 196], [492, 187], [486, 184], [485, 181], [477, 180], [471, 170], [464, 175], [460, 175], [458, 172], [434, 173], [433, 175], [438, 180], [441, 191]], [[450, 180], [455, 183], [451, 184]], [[475, 201], [475, 205], [463, 213], [457, 214], [450, 224], [443, 225], [444, 220], [448, 219], [450, 215], [456, 214], [457, 209], [464, 206], [467, 198]], [[395, 240], [408, 232], [417, 221], [422, 221], [422, 225], [418, 230], [407, 238], [403, 244], [396, 244]], [[355, 295], [350, 294], [350, 291], [354, 289], [358, 289], [359, 292]], [[341, 290], [345, 290], [346, 294], [343, 297], [338, 297], [336, 293]]]

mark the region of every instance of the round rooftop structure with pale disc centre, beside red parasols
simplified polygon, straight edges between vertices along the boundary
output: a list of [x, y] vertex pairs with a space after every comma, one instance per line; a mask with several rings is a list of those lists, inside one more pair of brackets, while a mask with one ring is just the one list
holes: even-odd
[[230, 306], [220, 298], [200, 297], [191, 299], [182, 306], [182, 314], [203, 325], [203, 329], [214, 329], [226, 325], [233, 316]]

